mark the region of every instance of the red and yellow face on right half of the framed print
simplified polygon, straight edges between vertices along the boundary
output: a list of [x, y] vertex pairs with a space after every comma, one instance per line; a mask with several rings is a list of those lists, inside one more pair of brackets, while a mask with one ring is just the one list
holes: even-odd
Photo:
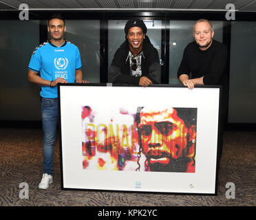
[[[186, 121], [188, 116], [191, 122]], [[136, 170], [194, 173], [195, 124], [193, 108], [143, 108], [138, 123], [140, 151]]]

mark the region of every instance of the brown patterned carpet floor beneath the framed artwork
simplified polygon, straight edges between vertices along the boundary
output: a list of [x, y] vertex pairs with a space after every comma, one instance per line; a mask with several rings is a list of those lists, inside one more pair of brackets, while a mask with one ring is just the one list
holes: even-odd
[[[39, 190], [42, 170], [41, 129], [0, 129], [0, 206], [256, 206], [256, 132], [225, 131], [217, 196], [94, 190], [61, 190], [58, 138], [54, 183]], [[28, 199], [21, 199], [21, 183]], [[235, 184], [235, 199], [226, 184]]]

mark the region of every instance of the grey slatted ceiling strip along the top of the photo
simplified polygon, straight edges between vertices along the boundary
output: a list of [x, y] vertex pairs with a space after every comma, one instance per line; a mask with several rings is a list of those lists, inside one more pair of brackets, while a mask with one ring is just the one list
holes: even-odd
[[226, 10], [228, 3], [239, 12], [256, 12], [256, 0], [0, 0], [0, 10]]

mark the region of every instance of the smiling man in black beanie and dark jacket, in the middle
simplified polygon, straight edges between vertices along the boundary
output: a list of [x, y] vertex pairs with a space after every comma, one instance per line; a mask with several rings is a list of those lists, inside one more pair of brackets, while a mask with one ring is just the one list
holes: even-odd
[[125, 25], [125, 42], [120, 45], [109, 68], [109, 83], [147, 87], [160, 83], [158, 51], [146, 36], [147, 27], [139, 19]]

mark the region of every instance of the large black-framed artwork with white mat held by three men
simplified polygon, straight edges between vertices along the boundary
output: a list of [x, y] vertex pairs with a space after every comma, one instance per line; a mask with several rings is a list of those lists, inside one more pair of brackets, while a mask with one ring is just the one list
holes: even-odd
[[220, 87], [58, 86], [63, 189], [215, 194]]

